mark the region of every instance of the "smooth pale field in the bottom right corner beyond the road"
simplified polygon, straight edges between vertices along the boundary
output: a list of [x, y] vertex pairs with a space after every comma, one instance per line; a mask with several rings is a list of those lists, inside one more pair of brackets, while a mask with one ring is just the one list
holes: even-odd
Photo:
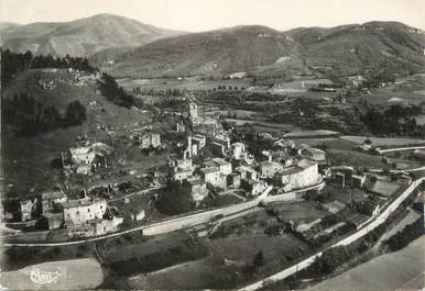
[[400, 251], [374, 258], [306, 290], [422, 290], [424, 243], [422, 236]]

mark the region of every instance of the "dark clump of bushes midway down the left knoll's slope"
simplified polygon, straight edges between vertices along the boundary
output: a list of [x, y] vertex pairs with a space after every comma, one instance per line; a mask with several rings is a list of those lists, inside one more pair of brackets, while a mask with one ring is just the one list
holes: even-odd
[[68, 103], [65, 114], [54, 105], [43, 107], [30, 94], [21, 93], [2, 101], [2, 121], [25, 135], [35, 135], [59, 127], [75, 126], [86, 121], [86, 108], [79, 101]]

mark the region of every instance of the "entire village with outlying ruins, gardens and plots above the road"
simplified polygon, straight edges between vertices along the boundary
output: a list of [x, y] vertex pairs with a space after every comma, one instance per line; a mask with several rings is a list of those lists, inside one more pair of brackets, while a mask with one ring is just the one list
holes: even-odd
[[[90, 187], [74, 187], [74, 191], [56, 188], [26, 200], [3, 203], [2, 219], [11, 233], [7, 239], [25, 242], [31, 237], [31, 242], [42, 243], [101, 237], [166, 222], [176, 214], [192, 215], [194, 211], [207, 213], [239, 204], [235, 212], [240, 212], [252, 208], [252, 202], [266, 206], [312, 199], [319, 201], [319, 209], [334, 217], [333, 224], [325, 220], [320, 225], [323, 220], [318, 217], [295, 224], [291, 221], [292, 228], [302, 230], [312, 239], [322, 236], [329, 239], [336, 232], [348, 233], [370, 222], [397, 192], [412, 183], [412, 176], [403, 171], [379, 174], [364, 167], [333, 167], [323, 149], [276, 133], [257, 133], [252, 141], [238, 141], [231, 127], [224, 128], [219, 116], [199, 112], [193, 92], [186, 94], [183, 105], [183, 114], [170, 110], [161, 113], [175, 121], [170, 132], [153, 128], [149, 123], [127, 131], [128, 138], [138, 144], [140, 155], [167, 153], [161, 169], [142, 174], [137, 169], [126, 174], [120, 170], [123, 176], [118, 181], [95, 179]], [[171, 138], [175, 136], [177, 141]], [[61, 154], [63, 175], [70, 181], [73, 177], [105, 177], [116, 170], [110, 165], [113, 150], [106, 143], [81, 138]], [[358, 150], [377, 149], [370, 141], [364, 141]], [[179, 191], [183, 195], [174, 193]], [[190, 206], [165, 205], [173, 209], [167, 213], [159, 206], [164, 208], [164, 203]], [[344, 220], [335, 219], [341, 217], [341, 213]], [[207, 220], [208, 224], [214, 221], [216, 217]], [[203, 223], [183, 223], [172, 230], [199, 224]], [[326, 240], [320, 239], [320, 243]]]

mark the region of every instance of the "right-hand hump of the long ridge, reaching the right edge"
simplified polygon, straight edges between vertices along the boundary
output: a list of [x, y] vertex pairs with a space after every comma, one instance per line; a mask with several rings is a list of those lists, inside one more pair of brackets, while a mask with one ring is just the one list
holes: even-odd
[[407, 71], [425, 68], [425, 35], [402, 23], [298, 29], [288, 34], [299, 43], [301, 54], [314, 68], [331, 68], [344, 75], [383, 66]]

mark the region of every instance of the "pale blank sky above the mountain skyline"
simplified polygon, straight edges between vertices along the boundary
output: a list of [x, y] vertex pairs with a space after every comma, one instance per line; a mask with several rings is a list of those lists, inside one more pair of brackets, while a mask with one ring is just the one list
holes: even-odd
[[401, 21], [425, 30], [425, 0], [0, 0], [0, 21], [22, 24], [98, 13], [193, 32], [240, 24], [288, 30], [371, 20]]

